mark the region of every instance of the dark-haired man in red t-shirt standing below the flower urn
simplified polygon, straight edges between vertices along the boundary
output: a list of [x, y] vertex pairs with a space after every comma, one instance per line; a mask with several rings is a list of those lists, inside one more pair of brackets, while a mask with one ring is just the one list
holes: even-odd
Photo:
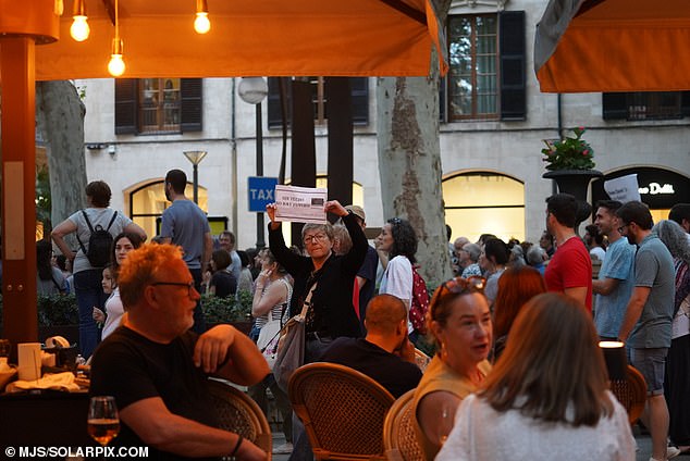
[[556, 240], [556, 252], [544, 273], [549, 291], [559, 291], [592, 311], [592, 261], [575, 234], [578, 202], [569, 194], [546, 199], [546, 229]]

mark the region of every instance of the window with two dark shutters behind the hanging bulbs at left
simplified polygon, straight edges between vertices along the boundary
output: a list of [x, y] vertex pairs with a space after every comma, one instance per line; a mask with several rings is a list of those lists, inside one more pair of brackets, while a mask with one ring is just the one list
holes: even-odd
[[201, 78], [115, 79], [115, 134], [201, 130]]

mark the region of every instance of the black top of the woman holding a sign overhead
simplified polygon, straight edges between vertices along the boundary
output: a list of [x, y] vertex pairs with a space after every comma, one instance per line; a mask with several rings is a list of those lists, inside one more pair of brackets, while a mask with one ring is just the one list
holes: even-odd
[[[355, 276], [367, 254], [367, 237], [355, 216], [343, 216], [343, 223], [353, 240], [347, 254], [332, 254], [318, 272], [318, 285], [311, 296], [313, 316], [307, 322], [307, 333], [317, 332], [322, 337], [361, 336], [359, 320], [353, 306]], [[301, 311], [303, 301], [310, 288], [307, 281], [315, 270], [309, 257], [295, 254], [285, 246], [283, 233], [279, 226], [271, 229], [269, 224], [269, 246], [275, 260], [293, 276], [295, 285], [291, 299], [291, 315]]]

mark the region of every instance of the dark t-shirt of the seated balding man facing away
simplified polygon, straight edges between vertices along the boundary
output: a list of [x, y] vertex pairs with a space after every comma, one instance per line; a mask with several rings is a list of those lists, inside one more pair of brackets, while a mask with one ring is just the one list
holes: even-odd
[[421, 370], [364, 338], [341, 337], [321, 356], [322, 362], [338, 363], [366, 374], [398, 398], [414, 389]]

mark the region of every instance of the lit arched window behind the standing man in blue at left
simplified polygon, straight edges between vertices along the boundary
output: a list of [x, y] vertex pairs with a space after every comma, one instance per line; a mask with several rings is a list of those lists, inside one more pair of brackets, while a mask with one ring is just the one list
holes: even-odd
[[[156, 180], [138, 187], [130, 192], [130, 211], [132, 221], [140, 225], [149, 238], [158, 234], [156, 220], [170, 207], [165, 199], [164, 180]], [[193, 185], [187, 183], [186, 192], [192, 192]], [[190, 195], [190, 194], [189, 194]], [[199, 208], [208, 213], [208, 191], [198, 188]]]

